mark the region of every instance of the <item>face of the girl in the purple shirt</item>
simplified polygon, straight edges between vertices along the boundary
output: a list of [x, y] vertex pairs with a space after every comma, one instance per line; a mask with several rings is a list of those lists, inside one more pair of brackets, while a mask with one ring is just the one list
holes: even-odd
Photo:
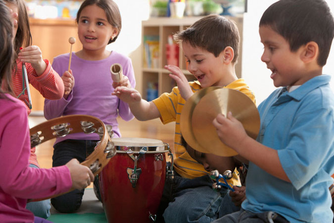
[[97, 5], [82, 9], [78, 20], [78, 36], [84, 50], [104, 51], [118, 31], [107, 20], [105, 11]]

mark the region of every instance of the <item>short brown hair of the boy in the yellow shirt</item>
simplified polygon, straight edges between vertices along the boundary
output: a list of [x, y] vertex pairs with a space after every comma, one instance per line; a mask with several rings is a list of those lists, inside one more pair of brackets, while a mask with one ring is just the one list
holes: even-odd
[[226, 47], [232, 47], [235, 63], [239, 56], [240, 36], [236, 23], [221, 15], [205, 16], [188, 29], [174, 34], [177, 43], [188, 42], [192, 47], [204, 49], [219, 56]]

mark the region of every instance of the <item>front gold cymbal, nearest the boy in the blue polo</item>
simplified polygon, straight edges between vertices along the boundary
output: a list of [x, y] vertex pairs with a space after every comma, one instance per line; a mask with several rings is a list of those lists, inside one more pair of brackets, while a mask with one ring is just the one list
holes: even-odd
[[[198, 143], [196, 148], [193, 147], [195, 150], [225, 157], [238, 155], [235, 150], [220, 141], [216, 128], [212, 124], [219, 113], [226, 116], [228, 111], [231, 111], [233, 116], [242, 123], [250, 137], [254, 139], [257, 137], [260, 129], [260, 115], [252, 100], [238, 90], [219, 88], [205, 92], [193, 107], [189, 115], [191, 115], [191, 132]], [[187, 136], [185, 140], [188, 143]], [[189, 145], [192, 147], [191, 144]]]

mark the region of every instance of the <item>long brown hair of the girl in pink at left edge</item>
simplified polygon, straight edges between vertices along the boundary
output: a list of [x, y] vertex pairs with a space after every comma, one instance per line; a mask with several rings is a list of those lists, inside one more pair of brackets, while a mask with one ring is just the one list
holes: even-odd
[[8, 7], [0, 1], [0, 98], [12, 94], [11, 72], [13, 62], [13, 25]]

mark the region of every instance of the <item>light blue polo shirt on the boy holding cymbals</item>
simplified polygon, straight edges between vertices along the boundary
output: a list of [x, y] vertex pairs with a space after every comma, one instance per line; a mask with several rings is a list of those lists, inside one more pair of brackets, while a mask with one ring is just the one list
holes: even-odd
[[242, 208], [274, 211], [291, 223], [332, 223], [329, 191], [334, 173], [334, 95], [331, 77], [312, 78], [292, 92], [275, 90], [259, 107], [257, 141], [278, 150], [291, 183], [253, 163]]

